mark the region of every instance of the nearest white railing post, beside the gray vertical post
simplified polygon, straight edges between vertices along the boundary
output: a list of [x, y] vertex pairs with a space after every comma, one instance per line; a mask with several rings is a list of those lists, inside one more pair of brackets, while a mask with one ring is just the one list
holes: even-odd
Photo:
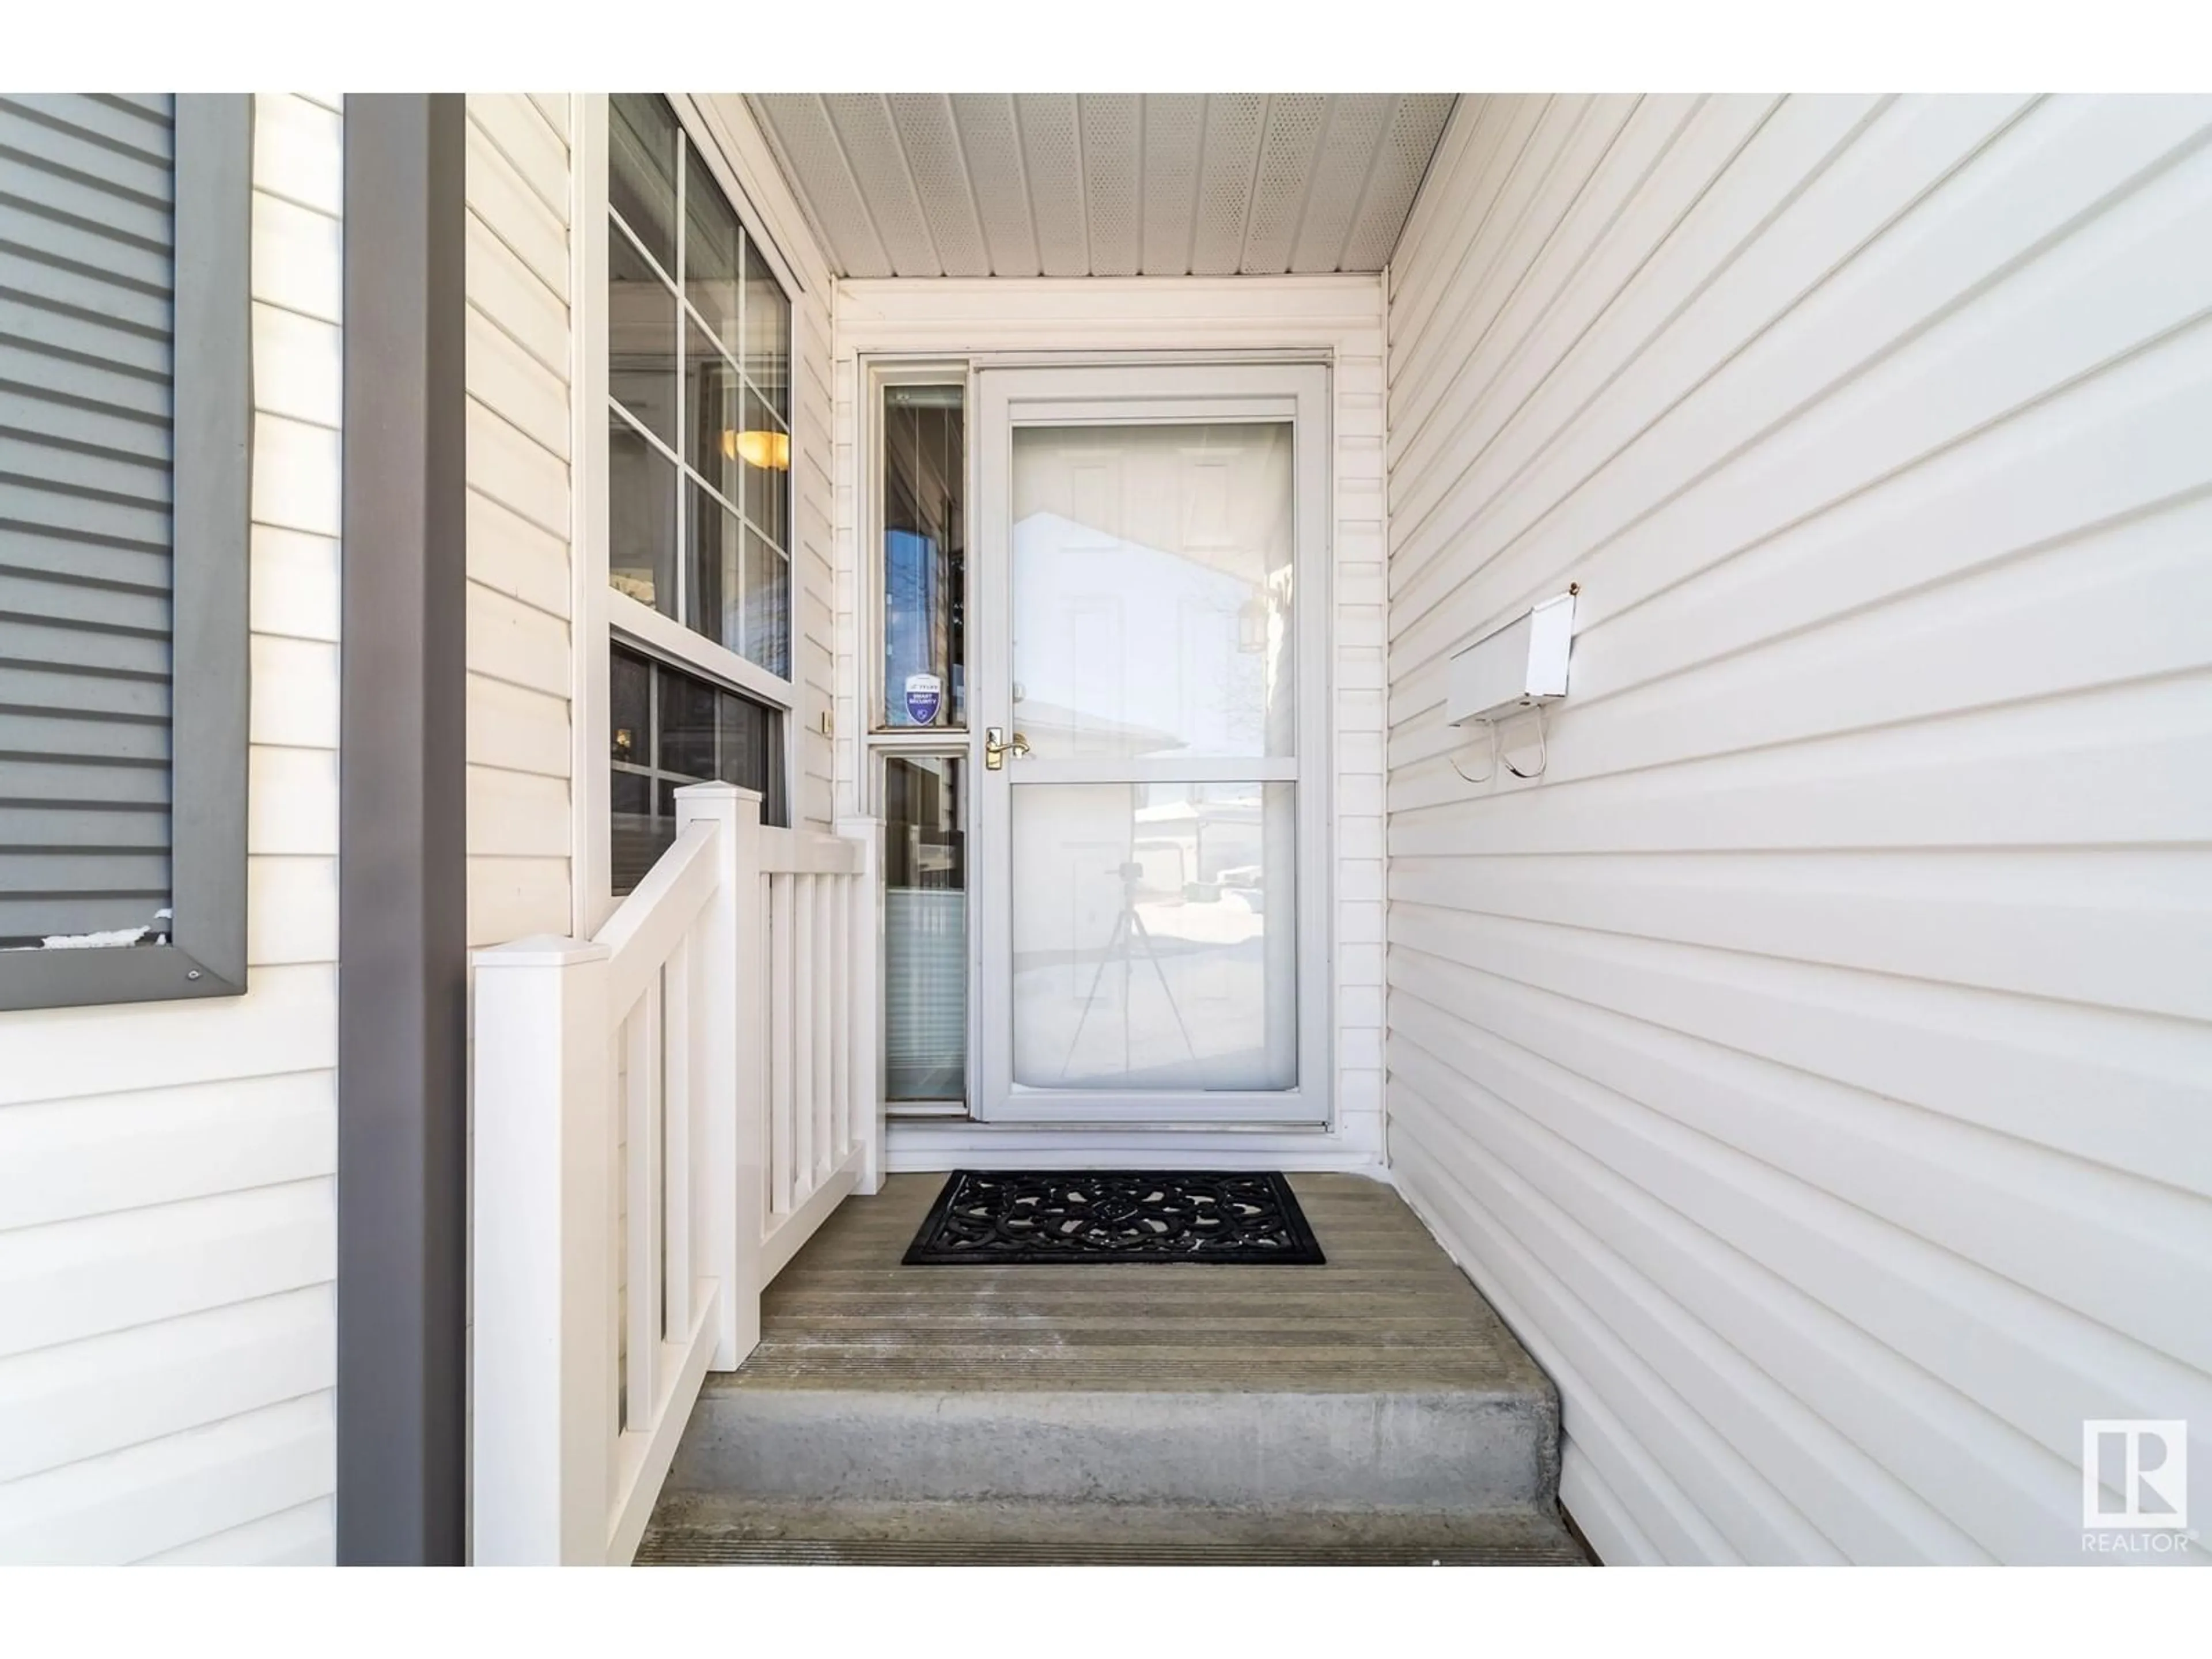
[[473, 1559], [604, 1564], [615, 1152], [604, 945], [478, 951]]

